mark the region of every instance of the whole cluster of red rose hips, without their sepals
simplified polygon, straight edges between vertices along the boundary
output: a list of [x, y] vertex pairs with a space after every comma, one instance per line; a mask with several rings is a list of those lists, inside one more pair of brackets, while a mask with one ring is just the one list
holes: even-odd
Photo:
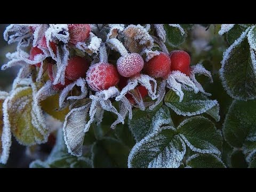
[[[90, 36], [90, 25], [88, 24], [71, 24], [68, 25], [70, 44], [83, 42]], [[46, 38], [44, 37], [39, 43], [40, 47], [47, 49]], [[57, 44], [50, 42], [53, 53], [57, 52]], [[33, 60], [35, 55], [43, 54], [43, 51], [38, 47], [32, 47], [30, 50], [29, 59]], [[86, 78], [86, 82], [94, 91], [107, 90], [111, 86], [118, 85], [120, 90], [127, 85], [129, 78], [143, 74], [154, 78], [166, 79], [171, 71], [179, 70], [183, 74], [190, 75], [190, 56], [185, 51], [172, 51], [170, 54], [161, 52], [148, 62], [144, 62], [143, 58], [138, 53], [129, 53], [117, 60], [116, 67], [107, 62], [99, 62], [90, 66], [90, 62], [85, 58], [74, 56], [69, 58], [68, 65], [65, 71], [65, 85], [61, 83], [54, 85], [54, 89], [61, 90], [68, 84], [76, 81], [78, 78]], [[35, 66], [40, 67], [41, 63]], [[53, 82], [54, 80], [54, 63], [48, 63], [48, 74]], [[144, 98], [148, 95], [147, 89], [139, 85], [135, 87], [134, 93]], [[131, 103], [135, 103], [132, 96], [127, 93], [126, 98]]]

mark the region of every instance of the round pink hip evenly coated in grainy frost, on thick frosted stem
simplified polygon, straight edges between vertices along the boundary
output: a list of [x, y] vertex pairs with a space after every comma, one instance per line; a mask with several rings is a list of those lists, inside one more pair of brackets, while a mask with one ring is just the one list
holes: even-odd
[[143, 69], [144, 61], [138, 53], [130, 53], [117, 60], [117, 70], [123, 77], [138, 75]]

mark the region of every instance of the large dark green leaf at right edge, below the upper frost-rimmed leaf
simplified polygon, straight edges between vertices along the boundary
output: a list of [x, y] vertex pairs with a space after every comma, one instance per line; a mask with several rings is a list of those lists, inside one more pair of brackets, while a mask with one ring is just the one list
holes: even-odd
[[241, 148], [245, 141], [255, 141], [256, 101], [234, 100], [223, 123], [223, 136], [233, 147]]

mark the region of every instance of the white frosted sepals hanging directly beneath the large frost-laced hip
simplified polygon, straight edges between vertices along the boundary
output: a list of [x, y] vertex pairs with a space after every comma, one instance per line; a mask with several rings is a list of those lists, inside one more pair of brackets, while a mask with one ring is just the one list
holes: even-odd
[[109, 87], [107, 90], [95, 92], [95, 95], [90, 95], [90, 99], [92, 100], [89, 116], [90, 120], [86, 123], [84, 132], [87, 132], [90, 128], [91, 123], [94, 121], [95, 114], [97, 113], [97, 109], [101, 107], [103, 110], [110, 111], [117, 115], [117, 121], [122, 122], [124, 124], [124, 118], [121, 114], [118, 113], [116, 108], [112, 105], [110, 98], [114, 98], [119, 94], [119, 91], [116, 87]]

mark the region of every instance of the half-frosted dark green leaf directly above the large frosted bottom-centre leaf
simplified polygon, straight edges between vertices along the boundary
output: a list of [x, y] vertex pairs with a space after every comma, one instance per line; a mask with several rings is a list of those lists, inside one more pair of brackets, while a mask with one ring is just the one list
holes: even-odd
[[133, 109], [132, 119], [129, 120], [129, 128], [137, 142], [162, 125], [173, 126], [169, 109], [161, 105], [162, 103], [153, 110]]

